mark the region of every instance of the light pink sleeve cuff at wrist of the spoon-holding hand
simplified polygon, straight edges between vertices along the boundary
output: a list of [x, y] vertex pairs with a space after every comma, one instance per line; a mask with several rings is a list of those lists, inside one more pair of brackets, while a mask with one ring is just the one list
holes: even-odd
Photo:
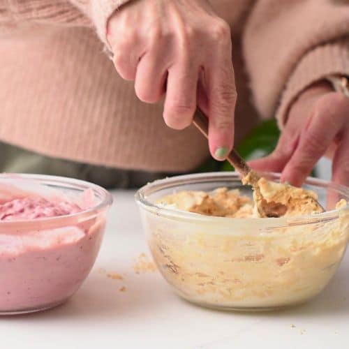
[[91, 1], [91, 16], [98, 36], [110, 50], [107, 42], [107, 22], [117, 8], [130, 0], [93, 0]]

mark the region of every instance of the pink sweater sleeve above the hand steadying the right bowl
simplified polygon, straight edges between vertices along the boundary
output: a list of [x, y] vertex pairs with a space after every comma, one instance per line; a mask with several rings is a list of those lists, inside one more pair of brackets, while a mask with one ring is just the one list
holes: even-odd
[[243, 33], [253, 99], [283, 126], [289, 107], [326, 75], [349, 75], [349, 2], [257, 0]]

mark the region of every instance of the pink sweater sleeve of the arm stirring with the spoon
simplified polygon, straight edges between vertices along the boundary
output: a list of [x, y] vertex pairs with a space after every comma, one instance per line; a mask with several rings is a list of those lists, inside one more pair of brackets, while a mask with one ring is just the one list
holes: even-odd
[[103, 43], [107, 20], [129, 0], [0, 0], [2, 22], [50, 22], [70, 26], [94, 26]]

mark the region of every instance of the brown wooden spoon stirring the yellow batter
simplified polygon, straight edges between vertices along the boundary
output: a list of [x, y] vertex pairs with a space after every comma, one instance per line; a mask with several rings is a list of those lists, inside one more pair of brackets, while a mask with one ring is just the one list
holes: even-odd
[[[193, 124], [201, 131], [203, 135], [205, 135], [206, 138], [208, 138], [208, 119], [199, 108], [196, 110]], [[255, 204], [261, 217], [281, 217], [286, 213], [288, 207], [283, 205], [281, 202], [267, 202], [267, 200], [263, 198], [262, 193], [260, 192], [260, 187], [258, 186], [260, 176], [258, 176], [258, 174], [247, 165], [247, 163], [235, 149], [230, 151], [227, 160], [235, 168], [235, 170], [242, 175], [243, 183], [250, 184], [253, 187], [253, 190], [255, 191]], [[317, 204], [322, 211], [325, 211], [318, 202]]]

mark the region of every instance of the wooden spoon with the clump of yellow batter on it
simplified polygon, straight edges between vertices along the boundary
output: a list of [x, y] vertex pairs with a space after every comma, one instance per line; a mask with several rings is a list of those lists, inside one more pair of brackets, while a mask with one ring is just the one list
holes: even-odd
[[[208, 119], [197, 108], [193, 124], [208, 138]], [[253, 188], [255, 213], [260, 217], [295, 216], [325, 211], [312, 191], [269, 181], [253, 171], [235, 149], [227, 157], [229, 163], [242, 175], [242, 183]]]

